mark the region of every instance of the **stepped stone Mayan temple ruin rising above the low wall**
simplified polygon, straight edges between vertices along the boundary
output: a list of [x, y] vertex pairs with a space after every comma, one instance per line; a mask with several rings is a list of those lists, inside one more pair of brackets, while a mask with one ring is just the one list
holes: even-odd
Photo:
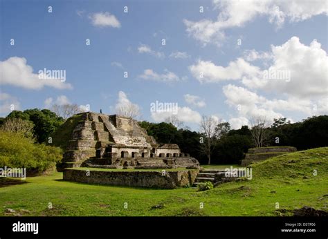
[[177, 144], [158, 144], [136, 120], [80, 113], [59, 169], [198, 169], [199, 162]]

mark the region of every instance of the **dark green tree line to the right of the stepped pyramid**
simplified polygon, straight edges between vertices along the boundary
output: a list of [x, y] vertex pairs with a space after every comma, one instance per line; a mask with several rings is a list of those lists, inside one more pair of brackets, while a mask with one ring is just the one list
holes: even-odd
[[201, 164], [239, 164], [248, 149], [261, 146], [294, 146], [298, 150], [328, 146], [328, 115], [309, 117], [291, 123], [286, 118], [274, 119], [269, 125], [264, 118], [250, 120], [250, 127], [230, 129], [228, 122], [204, 116], [200, 130], [177, 128], [172, 123], [140, 122], [158, 143], [178, 144]]

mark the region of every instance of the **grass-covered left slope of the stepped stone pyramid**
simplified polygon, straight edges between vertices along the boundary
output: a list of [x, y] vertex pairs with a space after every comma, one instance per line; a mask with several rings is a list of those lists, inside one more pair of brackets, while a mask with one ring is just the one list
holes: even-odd
[[82, 114], [73, 115], [67, 119], [53, 134], [53, 145], [66, 150], [67, 144], [71, 140], [73, 129], [78, 125], [80, 120], [82, 120]]

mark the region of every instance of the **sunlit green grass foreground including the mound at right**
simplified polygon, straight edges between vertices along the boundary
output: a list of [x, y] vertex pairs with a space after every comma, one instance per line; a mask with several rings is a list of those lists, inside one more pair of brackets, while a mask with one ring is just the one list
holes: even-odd
[[62, 173], [15, 185], [2, 178], [0, 216], [280, 216], [276, 203], [280, 209], [328, 210], [328, 147], [280, 155], [252, 167], [252, 180], [210, 191], [81, 184], [63, 181]]

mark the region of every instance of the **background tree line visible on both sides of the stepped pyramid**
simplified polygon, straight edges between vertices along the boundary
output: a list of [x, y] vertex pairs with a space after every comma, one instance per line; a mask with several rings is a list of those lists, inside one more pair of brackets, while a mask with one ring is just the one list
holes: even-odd
[[[64, 123], [64, 117], [48, 109], [12, 111], [0, 118], [3, 131], [23, 131], [35, 142], [48, 144], [51, 136]], [[250, 126], [231, 129], [228, 122], [203, 116], [199, 131], [192, 131], [176, 119], [165, 122], [139, 122], [158, 143], [178, 144], [201, 164], [238, 164], [248, 149], [260, 146], [295, 146], [298, 150], [328, 144], [328, 115], [309, 117], [291, 123], [286, 118], [268, 124], [263, 118], [250, 120]]]

